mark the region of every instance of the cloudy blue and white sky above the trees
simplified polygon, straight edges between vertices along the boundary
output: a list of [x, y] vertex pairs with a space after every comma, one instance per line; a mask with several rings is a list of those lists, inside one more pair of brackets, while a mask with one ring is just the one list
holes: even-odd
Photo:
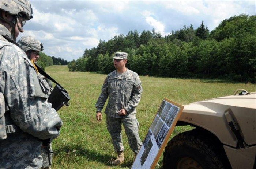
[[231, 16], [256, 15], [256, 0], [30, 0], [33, 19], [22, 36], [35, 36], [44, 53], [67, 61], [78, 59], [99, 40], [131, 30], [172, 30], [201, 22], [211, 31]]

